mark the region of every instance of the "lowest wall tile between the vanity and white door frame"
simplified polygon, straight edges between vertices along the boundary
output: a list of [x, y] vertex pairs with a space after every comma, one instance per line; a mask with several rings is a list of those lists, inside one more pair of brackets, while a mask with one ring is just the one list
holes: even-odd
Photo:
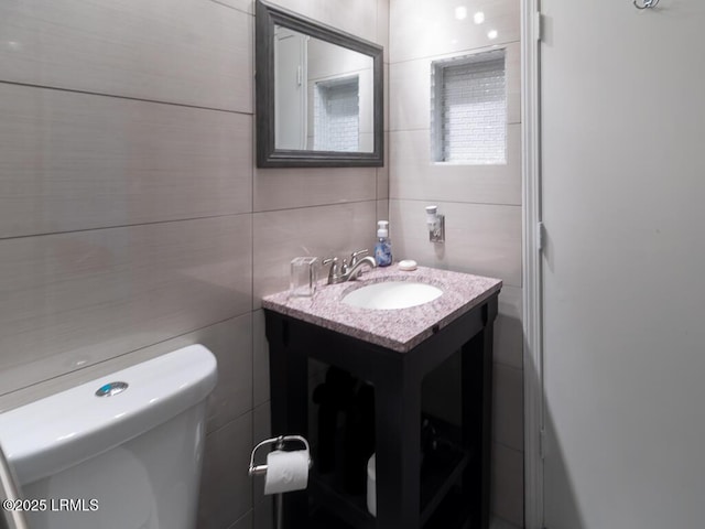
[[523, 527], [523, 454], [492, 444], [491, 509], [505, 520]]

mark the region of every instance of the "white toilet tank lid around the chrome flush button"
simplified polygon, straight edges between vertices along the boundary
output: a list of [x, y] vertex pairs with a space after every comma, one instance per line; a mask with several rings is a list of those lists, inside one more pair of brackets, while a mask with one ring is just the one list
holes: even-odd
[[[0, 443], [20, 484], [106, 452], [205, 400], [216, 358], [196, 344], [0, 414]], [[110, 382], [123, 391], [98, 397]]]

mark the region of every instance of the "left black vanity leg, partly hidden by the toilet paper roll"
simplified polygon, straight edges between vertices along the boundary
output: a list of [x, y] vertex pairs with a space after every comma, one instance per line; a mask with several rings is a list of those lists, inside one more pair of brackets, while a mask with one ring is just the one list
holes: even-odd
[[[278, 317], [267, 321], [269, 341], [270, 406], [272, 435], [308, 435], [308, 359], [296, 347], [289, 346], [289, 322]], [[259, 442], [259, 440], [258, 440]], [[306, 490], [283, 495], [283, 527], [308, 526]]]

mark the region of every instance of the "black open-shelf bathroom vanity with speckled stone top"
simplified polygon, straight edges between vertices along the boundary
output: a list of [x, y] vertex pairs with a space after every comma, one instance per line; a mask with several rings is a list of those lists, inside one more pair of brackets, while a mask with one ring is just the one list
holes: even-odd
[[[341, 301], [354, 290], [390, 281], [433, 285], [443, 293], [390, 310]], [[500, 289], [497, 279], [391, 266], [356, 281], [321, 285], [313, 298], [281, 292], [263, 299], [272, 434], [308, 434], [310, 358], [375, 387], [377, 517], [367, 511], [364, 497], [341, 493], [317, 475], [314, 457], [308, 489], [284, 495], [284, 527], [312, 527], [310, 504], [325, 505], [354, 528], [489, 527], [492, 325]], [[455, 445], [422, 475], [422, 381], [456, 352], [463, 424]]]

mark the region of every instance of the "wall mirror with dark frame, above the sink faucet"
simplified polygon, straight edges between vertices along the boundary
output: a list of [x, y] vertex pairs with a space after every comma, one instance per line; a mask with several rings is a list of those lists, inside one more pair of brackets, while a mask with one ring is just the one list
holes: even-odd
[[258, 0], [258, 168], [381, 166], [382, 47]]

